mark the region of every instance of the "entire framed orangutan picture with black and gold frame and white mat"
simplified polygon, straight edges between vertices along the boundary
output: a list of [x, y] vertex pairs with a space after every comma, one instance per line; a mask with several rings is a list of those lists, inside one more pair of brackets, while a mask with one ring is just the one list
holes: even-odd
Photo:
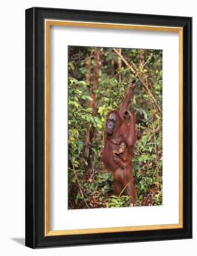
[[192, 237], [192, 18], [26, 10], [26, 246]]

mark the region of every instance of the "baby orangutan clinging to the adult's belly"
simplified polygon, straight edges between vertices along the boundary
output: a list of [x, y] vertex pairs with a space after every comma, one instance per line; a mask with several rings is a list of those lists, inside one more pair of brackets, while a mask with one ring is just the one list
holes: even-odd
[[126, 168], [126, 158], [128, 149], [126, 148], [125, 141], [122, 141], [119, 145], [119, 150], [113, 150], [113, 160], [116, 161], [123, 169]]

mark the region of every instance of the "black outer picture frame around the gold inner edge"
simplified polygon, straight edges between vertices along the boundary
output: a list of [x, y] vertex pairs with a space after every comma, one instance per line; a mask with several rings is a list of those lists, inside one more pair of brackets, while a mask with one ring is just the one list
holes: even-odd
[[[183, 228], [45, 236], [45, 19], [183, 27]], [[173, 106], [173, 104], [172, 104]], [[48, 248], [192, 237], [192, 18], [33, 7], [26, 10], [26, 246]]]

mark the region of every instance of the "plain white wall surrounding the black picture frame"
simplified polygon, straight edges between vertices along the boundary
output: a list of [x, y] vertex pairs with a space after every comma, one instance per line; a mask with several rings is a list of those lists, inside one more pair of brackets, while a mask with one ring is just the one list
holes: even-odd
[[[161, 241], [148, 243], [127, 243], [72, 248], [32, 250], [25, 243], [25, 9], [33, 6], [70, 9], [89, 9], [98, 11], [150, 13], [193, 17], [193, 45], [197, 45], [197, 13], [194, 1], [179, 2], [157, 1], [91, 1], [91, 0], [7, 0], [1, 5], [0, 40], [0, 253], [11, 255], [14, 252], [25, 255], [120, 255], [138, 254], [152, 256], [157, 253], [165, 256], [169, 252], [179, 256], [194, 255], [197, 243], [197, 220], [193, 219], [193, 239]], [[169, 8], [170, 7], [170, 8]], [[197, 49], [193, 49], [197, 56]], [[193, 60], [193, 70], [197, 70], [197, 61]], [[194, 77], [193, 84], [197, 84]], [[193, 95], [197, 94], [194, 86]], [[193, 116], [197, 116], [197, 101], [193, 103]], [[193, 120], [197, 130], [197, 120]], [[197, 135], [193, 135], [193, 155], [197, 155]], [[195, 159], [195, 157], [194, 157]], [[194, 162], [193, 169], [197, 169]], [[197, 173], [193, 172], [193, 181]], [[193, 198], [197, 198], [197, 186], [193, 186]], [[196, 200], [195, 200], [196, 201]], [[197, 216], [197, 204], [193, 205], [193, 216]]]

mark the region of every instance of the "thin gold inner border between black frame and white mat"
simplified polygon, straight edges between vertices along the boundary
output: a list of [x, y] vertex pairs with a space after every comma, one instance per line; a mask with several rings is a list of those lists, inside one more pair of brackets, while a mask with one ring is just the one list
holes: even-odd
[[[179, 34], [179, 223], [94, 229], [50, 230], [50, 26], [102, 27]], [[183, 228], [183, 27], [45, 19], [45, 236], [99, 234]]]

